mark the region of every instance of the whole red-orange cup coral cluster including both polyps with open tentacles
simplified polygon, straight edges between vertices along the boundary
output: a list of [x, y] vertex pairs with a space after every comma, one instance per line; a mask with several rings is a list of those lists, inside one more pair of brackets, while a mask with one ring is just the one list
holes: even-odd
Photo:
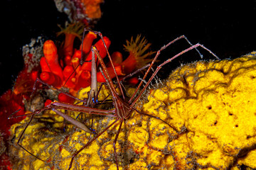
[[[52, 40], [47, 40], [43, 44], [43, 55], [41, 57], [41, 74], [40, 78], [56, 88], [62, 86], [68, 87], [70, 93], [75, 93], [81, 88], [90, 86], [91, 83], [91, 70], [92, 70], [92, 52], [91, 47], [93, 41], [97, 38], [97, 35], [93, 32], [88, 32], [80, 45], [80, 49], [74, 49], [73, 43], [76, 37], [80, 38], [82, 25], [70, 24], [67, 28], [62, 29], [58, 35], [65, 33], [65, 42], [63, 47], [58, 47]], [[75, 32], [75, 33], [74, 33]], [[124, 45], [125, 50], [129, 52], [129, 57], [123, 61], [121, 52], [113, 52], [112, 62], [116, 69], [117, 76], [122, 79], [125, 74], [130, 74], [135, 69], [143, 67], [151, 60], [147, 59], [154, 52], [146, 52], [150, 44], [147, 44], [145, 38], [140, 38], [138, 35], [135, 40], [127, 41], [127, 45]], [[103, 37], [107, 49], [110, 47], [111, 41], [107, 37]], [[95, 43], [100, 56], [105, 58], [107, 56], [107, 50], [102, 39]], [[82, 55], [82, 56], [81, 56]], [[60, 58], [60, 56], [62, 56]], [[97, 59], [97, 57], [96, 57]], [[82, 65], [80, 65], [82, 61]], [[109, 63], [106, 64], [107, 69], [110, 72], [110, 77], [115, 78], [114, 69]], [[99, 62], [97, 62], [99, 66]], [[35, 79], [38, 72], [33, 72], [33, 79]], [[98, 82], [106, 82], [105, 77], [101, 72], [97, 73]], [[129, 81], [128, 81], [129, 82]], [[138, 81], [133, 79], [131, 84], [136, 84]]]

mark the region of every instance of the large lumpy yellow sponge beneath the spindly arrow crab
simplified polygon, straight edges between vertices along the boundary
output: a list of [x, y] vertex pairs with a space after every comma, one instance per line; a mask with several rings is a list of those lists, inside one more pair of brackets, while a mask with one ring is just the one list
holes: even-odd
[[[255, 86], [256, 52], [179, 67], [163, 86], [149, 91], [146, 101], [137, 103], [139, 111], [161, 118], [178, 132], [161, 120], [134, 112], [117, 140], [119, 169], [256, 169]], [[78, 98], [86, 97], [86, 91], [90, 87], [82, 89]], [[108, 93], [105, 87], [100, 98]], [[74, 118], [79, 114], [65, 113]], [[78, 119], [96, 132], [115, 120], [89, 114]], [[11, 127], [9, 154], [14, 169], [68, 169], [72, 155], [93, 137], [53, 111], [36, 115], [20, 143], [46, 160], [42, 162], [16, 145], [28, 120]], [[83, 149], [71, 169], [117, 169], [112, 144], [117, 129], [118, 124], [112, 126]]]

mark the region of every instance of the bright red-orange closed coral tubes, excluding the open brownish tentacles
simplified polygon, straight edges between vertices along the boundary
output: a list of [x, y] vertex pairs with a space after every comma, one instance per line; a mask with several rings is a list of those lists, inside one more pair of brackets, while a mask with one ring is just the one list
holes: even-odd
[[[70, 38], [73, 36], [73, 38]], [[67, 39], [68, 37], [68, 39]], [[58, 49], [55, 43], [52, 40], [47, 40], [43, 45], [43, 54], [44, 57], [41, 58], [41, 74], [40, 78], [57, 88], [61, 86], [67, 86], [70, 89], [70, 92], [75, 94], [80, 88], [85, 88], [90, 86], [91, 81], [91, 60], [92, 52], [90, 48], [92, 46], [93, 40], [97, 38], [95, 33], [87, 33], [82, 42], [80, 50], [75, 50], [73, 52], [73, 40], [75, 35], [72, 33], [67, 33], [65, 38], [65, 44], [63, 46], [64, 50], [64, 64], [62, 60], [58, 58]], [[110, 47], [110, 39], [107, 37], [103, 38], [107, 47]], [[70, 45], [72, 44], [72, 47]], [[103, 45], [102, 40], [99, 40], [95, 43], [95, 47], [100, 51], [100, 55], [104, 58], [107, 55], [105, 46]], [[80, 66], [80, 61], [82, 60], [81, 54], [86, 57], [84, 64]], [[118, 72], [119, 73], [119, 72]], [[101, 74], [101, 73], [100, 73]], [[119, 75], [123, 75], [119, 73]], [[105, 81], [105, 79], [100, 79]]]

